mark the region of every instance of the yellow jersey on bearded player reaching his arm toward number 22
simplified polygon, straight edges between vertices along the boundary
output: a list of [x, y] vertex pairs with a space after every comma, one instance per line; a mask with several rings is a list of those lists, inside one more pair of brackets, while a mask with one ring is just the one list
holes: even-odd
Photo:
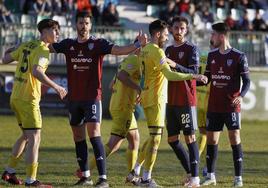
[[159, 104], [166, 101], [167, 83], [164, 74], [161, 72], [167, 66], [165, 52], [156, 44], [149, 43], [142, 48], [139, 62], [142, 64], [144, 86], [142, 91], [143, 107]]

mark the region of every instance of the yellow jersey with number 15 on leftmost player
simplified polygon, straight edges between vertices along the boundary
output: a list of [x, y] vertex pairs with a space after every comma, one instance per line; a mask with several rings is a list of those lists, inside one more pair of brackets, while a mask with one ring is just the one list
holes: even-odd
[[40, 40], [23, 43], [11, 53], [18, 62], [11, 99], [20, 99], [38, 103], [41, 98], [41, 82], [32, 75], [34, 65], [44, 70], [49, 64], [49, 49]]

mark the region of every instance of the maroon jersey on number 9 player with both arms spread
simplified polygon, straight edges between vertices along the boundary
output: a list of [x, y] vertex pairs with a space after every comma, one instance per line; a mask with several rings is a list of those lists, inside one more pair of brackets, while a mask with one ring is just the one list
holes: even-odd
[[92, 36], [84, 43], [64, 39], [53, 44], [57, 53], [65, 54], [70, 101], [101, 100], [103, 57], [112, 47], [109, 41]]

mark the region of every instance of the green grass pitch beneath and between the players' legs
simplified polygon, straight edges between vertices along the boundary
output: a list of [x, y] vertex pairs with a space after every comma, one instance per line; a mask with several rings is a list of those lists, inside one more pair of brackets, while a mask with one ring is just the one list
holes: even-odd
[[[111, 121], [102, 123], [103, 141], [109, 137]], [[139, 122], [141, 143], [148, 135], [145, 122]], [[268, 151], [267, 151], [267, 122], [243, 122], [242, 144], [244, 149], [244, 187], [268, 187]], [[14, 116], [0, 116], [0, 169], [4, 169], [11, 147], [20, 130]], [[168, 146], [166, 132], [163, 135], [158, 158], [153, 170], [153, 177], [163, 187], [178, 187], [184, 177], [184, 171]], [[89, 157], [93, 157], [91, 145]], [[124, 184], [127, 174], [125, 160], [126, 143], [121, 150], [112, 155], [107, 161], [109, 182], [112, 187], [126, 187]], [[201, 162], [200, 166], [203, 166]], [[24, 163], [18, 166], [19, 177], [25, 179]], [[73, 175], [77, 169], [74, 143], [67, 117], [44, 117], [42, 141], [39, 155], [38, 179], [51, 182], [54, 187], [69, 187], [77, 180]], [[92, 172], [93, 180], [97, 179], [97, 171]], [[217, 187], [231, 187], [233, 182], [232, 153], [226, 131], [221, 136], [217, 161]], [[0, 187], [8, 187], [0, 181]]]

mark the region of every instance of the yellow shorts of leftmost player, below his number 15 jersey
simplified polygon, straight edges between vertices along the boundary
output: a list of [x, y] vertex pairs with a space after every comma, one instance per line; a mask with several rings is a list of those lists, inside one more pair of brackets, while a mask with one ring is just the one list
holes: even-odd
[[18, 124], [22, 129], [41, 129], [42, 118], [39, 104], [11, 99], [10, 107], [15, 112]]

